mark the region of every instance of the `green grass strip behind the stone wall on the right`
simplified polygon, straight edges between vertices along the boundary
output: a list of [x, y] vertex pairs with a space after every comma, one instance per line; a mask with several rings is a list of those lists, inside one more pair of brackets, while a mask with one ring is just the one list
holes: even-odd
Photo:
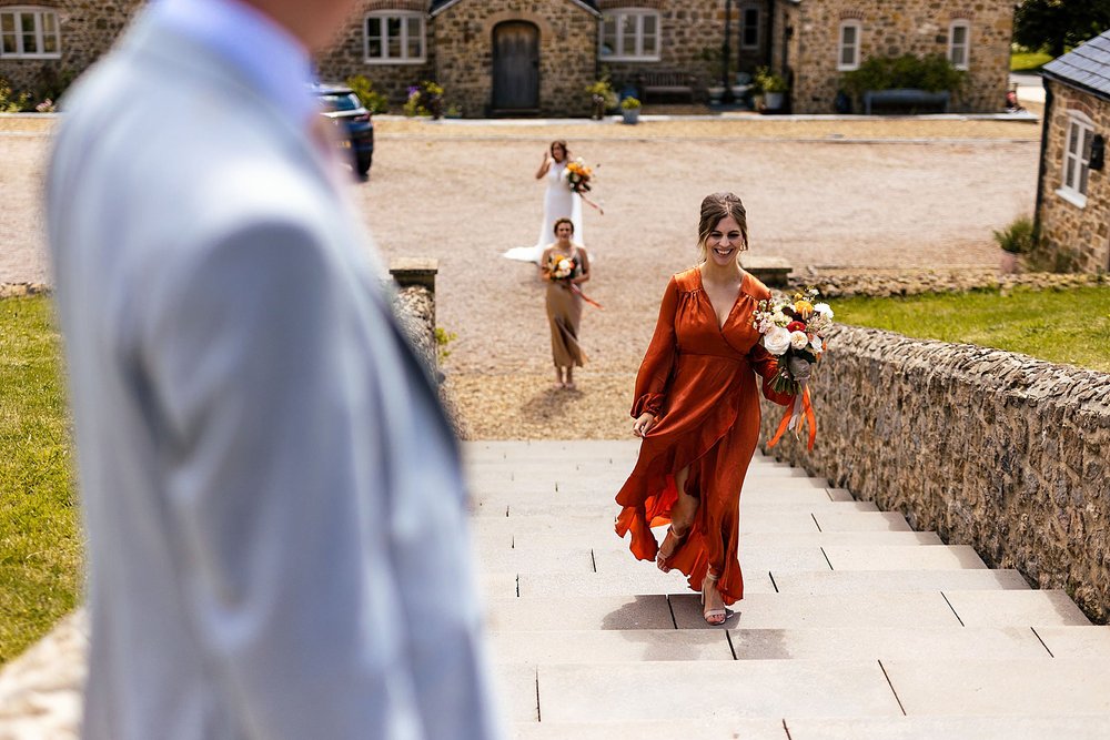
[[1110, 286], [833, 302], [836, 321], [1110, 373]]

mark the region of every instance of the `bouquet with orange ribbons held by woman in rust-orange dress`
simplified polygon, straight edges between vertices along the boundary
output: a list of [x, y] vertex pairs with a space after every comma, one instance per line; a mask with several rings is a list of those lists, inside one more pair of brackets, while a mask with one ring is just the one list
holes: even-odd
[[817, 438], [817, 418], [808, 386], [814, 367], [825, 354], [825, 335], [833, 328], [833, 308], [818, 303], [819, 297], [820, 292], [810, 287], [795, 293], [793, 298], [760, 301], [753, 316], [751, 325], [763, 335], [764, 347], [778, 357], [778, 374], [771, 379], [771, 387], [796, 396], [770, 447], [787, 429], [800, 435], [807, 423], [810, 449]]

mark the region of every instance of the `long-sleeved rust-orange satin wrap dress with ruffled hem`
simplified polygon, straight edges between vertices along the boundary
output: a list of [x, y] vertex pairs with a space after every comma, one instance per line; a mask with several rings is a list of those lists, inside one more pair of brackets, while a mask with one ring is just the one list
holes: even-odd
[[778, 363], [751, 326], [757, 303], [769, 297], [770, 291], [745, 272], [736, 303], [718, 327], [700, 270], [670, 278], [632, 408], [634, 418], [644, 412], [659, 418], [616, 497], [623, 507], [617, 535], [630, 531], [633, 554], [654, 560], [659, 546], [650, 528], [670, 521], [678, 500], [675, 474], [689, 466], [686, 493], [700, 501], [689, 533], [667, 564], [688, 576], [696, 591], [712, 567], [725, 604], [744, 598], [736, 553], [740, 488], [759, 436], [755, 374], [763, 376], [767, 398], [784, 406], [794, 402], [770, 387]]

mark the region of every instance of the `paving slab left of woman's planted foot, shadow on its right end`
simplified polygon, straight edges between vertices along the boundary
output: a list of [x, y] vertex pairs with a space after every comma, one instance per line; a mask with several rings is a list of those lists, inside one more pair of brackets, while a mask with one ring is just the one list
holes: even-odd
[[519, 597], [487, 599], [488, 629], [533, 632], [578, 629], [673, 629], [667, 597]]

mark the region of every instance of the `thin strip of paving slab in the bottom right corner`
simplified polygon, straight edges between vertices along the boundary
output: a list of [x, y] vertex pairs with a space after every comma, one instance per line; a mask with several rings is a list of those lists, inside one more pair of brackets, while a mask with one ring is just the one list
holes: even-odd
[[[1110, 717], [787, 717], [790, 740], [1106, 740]], [[706, 736], [708, 737], [708, 736]]]

